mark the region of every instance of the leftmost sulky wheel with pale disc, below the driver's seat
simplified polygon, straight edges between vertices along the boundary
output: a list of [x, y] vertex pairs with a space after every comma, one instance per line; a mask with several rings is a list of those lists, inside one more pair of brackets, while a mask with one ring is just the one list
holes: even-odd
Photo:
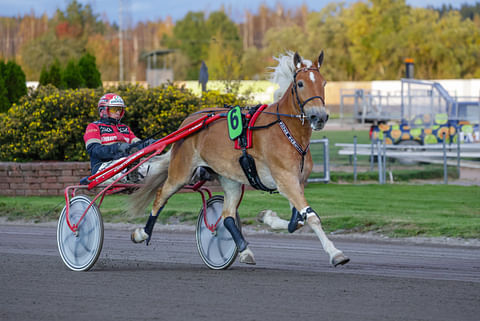
[[[75, 196], [70, 201], [70, 222], [75, 224], [90, 205], [86, 196]], [[72, 271], [88, 271], [97, 262], [103, 246], [103, 219], [94, 203], [80, 222], [78, 234], [68, 227], [67, 207], [60, 214], [57, 224], [57, 245], [63, 263]]]

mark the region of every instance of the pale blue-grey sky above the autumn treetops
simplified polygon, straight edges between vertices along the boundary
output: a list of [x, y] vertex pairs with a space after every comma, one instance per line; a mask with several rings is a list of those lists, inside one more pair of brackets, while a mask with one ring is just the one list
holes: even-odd
[[[118, 22], [119, 3], [124, 3], [124, 12], [128, 12], [127, 18], [131, 23], [139, 21], [164, 20], [167, 16], [174, 21], [182, 19], [188, 11], [204, 11], [206, 13], [219, 10], [222, 5], [226, 12], [235, 22], [242, 22], [245, 10], [256, 12], [261, 3], [274, 8], [277, 3], [282, 3], [287, 9], [292, 9], [306, 4], [309, 10], [319, 11], [333, 0], [77, 0], [86, 5], [90, 4], [94, 13], [106, 17], [110, 22]], [[352, 3], [357, 0], [344, 0]], [[407, 0], [407, 4], [414, 7], [426, 7], [428, 5], [439, 7], [442, 4], [451, 4], [460, 7], [463, 3], [473, 5], [480, 0]], [[70, 0], [0, 0], [0, 16], [18, 16], [33, 12], [40, 16], [47, 13], [51, 17], [57, 8], [64, 11]]]

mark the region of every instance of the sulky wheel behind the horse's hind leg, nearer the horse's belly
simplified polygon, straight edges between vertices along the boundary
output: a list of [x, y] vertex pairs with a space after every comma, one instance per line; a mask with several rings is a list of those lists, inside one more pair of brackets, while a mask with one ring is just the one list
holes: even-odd
[[[223, 196], [215, 195], [207, 201], [207, 222], [215, 224], [222, 215]], [[240, 219], [236, 213], [236, 224], [241, 231]], [[212, 270], [225, 270], [235, 261], [238, 250], [230, 232], [223, 225], [223, 219], [211, 232], [204, 221], [203, 206], [200, 209], [196, 226], [197, 249], [203, 262]]]

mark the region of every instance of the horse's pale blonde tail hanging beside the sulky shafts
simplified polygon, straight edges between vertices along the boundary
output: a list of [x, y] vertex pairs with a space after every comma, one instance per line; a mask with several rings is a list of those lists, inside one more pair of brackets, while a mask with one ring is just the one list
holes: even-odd
[[147, 176], [145, 184], [130, 197], [130, 213], [133, 217], [145, 215], [145, 208], [155, 198], [157, 190], [162, 187], [168, 177], [168, 166], [170, 164], [170, 151], [154, 158], [150, 164], [152, 174]]

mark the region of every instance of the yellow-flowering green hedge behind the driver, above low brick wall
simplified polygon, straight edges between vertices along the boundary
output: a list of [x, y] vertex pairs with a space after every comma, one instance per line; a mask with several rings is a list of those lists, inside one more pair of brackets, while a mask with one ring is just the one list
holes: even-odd
[[0, 160], [87, 161], [83, 134], [86, 126], [98, 119], [97, 102], [106, 92], [116, 92], [125, 100], [123, 120], [139, 138], [159, 131], [158, 137], [163, 137], [176, 130], [187, 115], [202, 108], [246, 104], [233, 94], [211, 91], [197, 97], [172, 84], [104, 90], [41, 86], [0, 114]]

